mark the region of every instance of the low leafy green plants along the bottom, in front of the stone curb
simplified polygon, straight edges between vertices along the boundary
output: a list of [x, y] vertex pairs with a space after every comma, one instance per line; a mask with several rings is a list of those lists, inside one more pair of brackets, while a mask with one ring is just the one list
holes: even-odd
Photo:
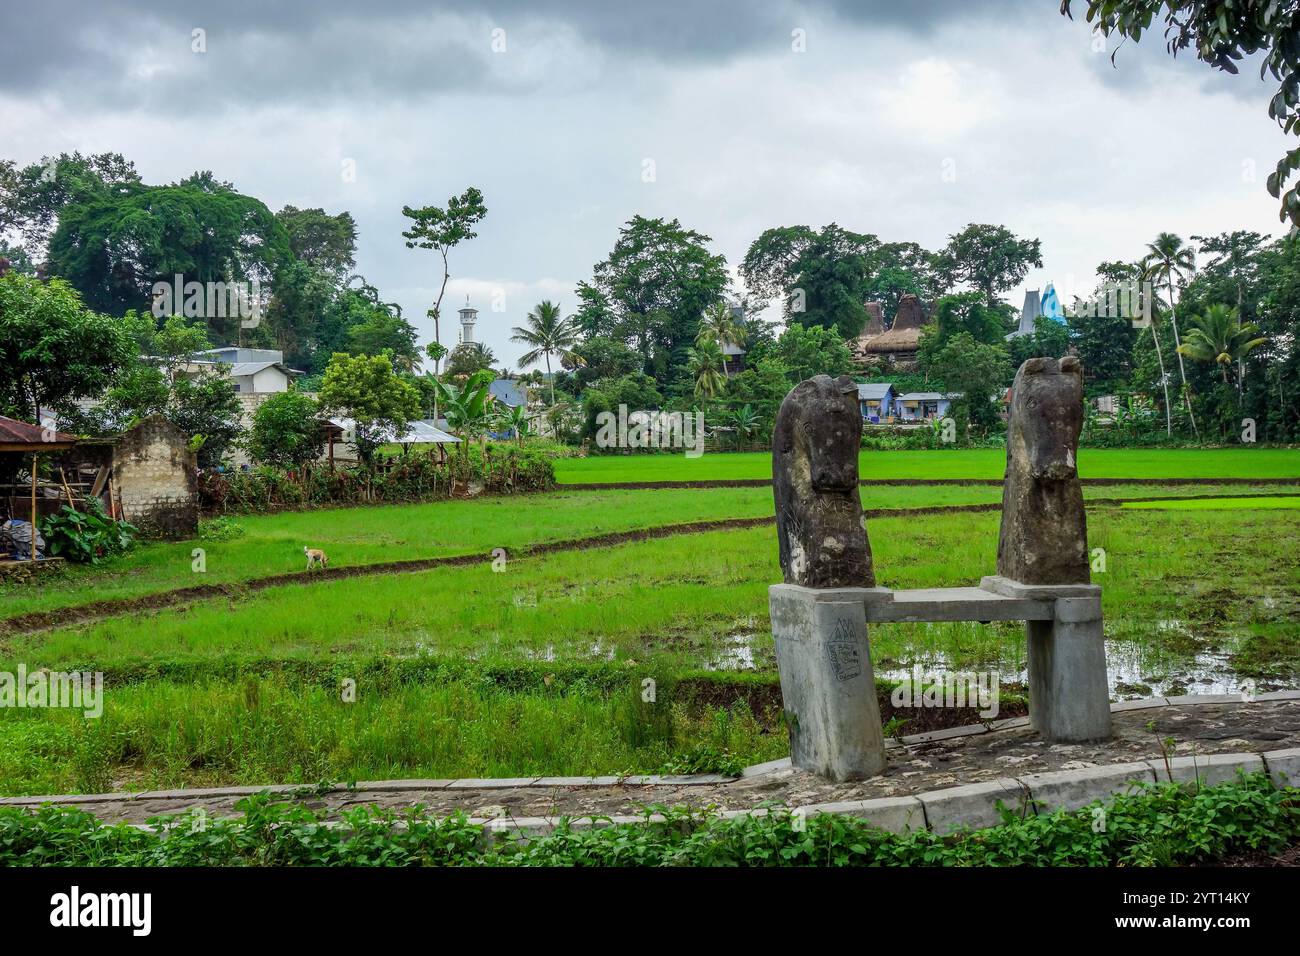
[[[1100, 816], [1097, 808], [1104, 808]], [[1144, 787], [1079, 810], [939, 836], [888, 834], [862, 819], [781, 808], [722, 819], [666, 810], [662, 822], [572, 829], [521, 842], [464, 816], [350, 810], [341, 826], [265, 796], [239, 819], [173, 818], [164, 835], [81, 810], [0, 810], [10, 866], [1173, 866], [1277, 853], [1300, 839], [1300, 791], [1266, 777], [1187, 790]], [[1097, 819], [1105, 819], [1098, 827]], [[402, 826], [396, 826], [396, 823]]]

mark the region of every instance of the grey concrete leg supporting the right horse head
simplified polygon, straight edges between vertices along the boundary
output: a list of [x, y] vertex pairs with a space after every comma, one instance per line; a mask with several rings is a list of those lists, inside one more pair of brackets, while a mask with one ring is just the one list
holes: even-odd
[[1046, 740], [1110, 736], [1110, 688], [1100, 597], [1062, 597], [1054, 620], [1026, 622], [1030, 723]]

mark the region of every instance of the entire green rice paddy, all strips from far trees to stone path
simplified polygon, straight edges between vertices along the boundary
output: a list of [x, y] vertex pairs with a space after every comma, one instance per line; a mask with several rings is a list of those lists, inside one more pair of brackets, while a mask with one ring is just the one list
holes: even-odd
[[[918, 454], [966, 477], [988, 468], [983, 451], [871, 460], [932, 476], [923, 470], [932, 459]], [[1082, 464], [1114, 477], [1284, 477], [1300, 475], [1297, 457], [1136, 451]], [[750, 458], [698, 460], [727, 472], [751, 467]], [[593, 460], [606, 459], [562, 464], [595, 468]], [[640, 481], [663, 480], [660, 462], [686, 459], [611, 460], [655, 473], [608, 479]], [[573, 473], [566, 477], [593, 480]], [[1117, 698], [1300, 685], [1300, 483], [1105, 485], [1086, 494]], [[1192, 494], [1212, 497], [1101, 503]], [[998, 499], [997, 486], [863, 488], [868, 510], [924, 509], [871, 519], [880, 581], [978, 583], [996, 563], [997, 512], [932, 509]], [[230, 540], [146, 545], [99, 568], [10, 584], [0, 589], [0, 671], [98, 670], [108, 687], [100, 719], [0, 710], [0, 791], [733, 770], [783, 756], [767, 619], [767, 587], [780, 578], [772, 527], [636, 535], [771, 511], [768, 488], [708, 488], [248, 516], [231, 519], [242, 535]], [[623, 532], [633, 535], [581, 544]], [[556, 541], [569, 544], [525, 550]], [[298, 574], [304, 544], [325, 548], [339, 568], [481, 559], [242, 587]], [[202, 574], [195, 548], [204, 550]], [[495, 549], [506, 555], [494, 568]], [[212, 583], [229, 589], [169, 596]], [[73, 620], [92, 602], [140, 598], [130, 613]], [[44, 617], [20, 617], [32, 614]], [[884, 682], [920, 663], [992, 670], [1014, 693], [1023, 656], [1013, 624], [872, 631]], [[660, 688], [653, 705], [640, 693], [647, 676]]]

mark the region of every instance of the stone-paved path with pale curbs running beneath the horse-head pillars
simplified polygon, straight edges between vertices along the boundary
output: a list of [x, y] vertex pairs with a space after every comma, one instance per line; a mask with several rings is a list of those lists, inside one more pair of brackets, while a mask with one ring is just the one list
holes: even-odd
[[1100, 744], [1048, 745], [1024, 717], [893, 739], [883, 774], [848, 783], [797, 771], [788, 760], [777, 760], [732, 777], [408, 779], [5, 797], [0, 805], [57, 804], [105, 822], [144, 825], [194, 810], [209, 819], [237, 817], [238, 801], [270, 792], [332, 819], [356, 806], [420, 806], [439, 816], [460, 812], [542, 831], [562, 817], [644, 817], [651, 806], [763, 812], [763, 806], [779, 805], [863, 816], [894, 831], [949, 831], [1001, 823], [1000, 803], [1032, 816], [1078, 809], [1138, 784], [1213, 786], [1239, 774], [1269, 774], [1274, 786], [1300, 780], [1297, 691], [1261, 695], [1251, 702], [1240, 696], [1157, 697], [1115, 704], [1112, 710], [1114, 736]]

